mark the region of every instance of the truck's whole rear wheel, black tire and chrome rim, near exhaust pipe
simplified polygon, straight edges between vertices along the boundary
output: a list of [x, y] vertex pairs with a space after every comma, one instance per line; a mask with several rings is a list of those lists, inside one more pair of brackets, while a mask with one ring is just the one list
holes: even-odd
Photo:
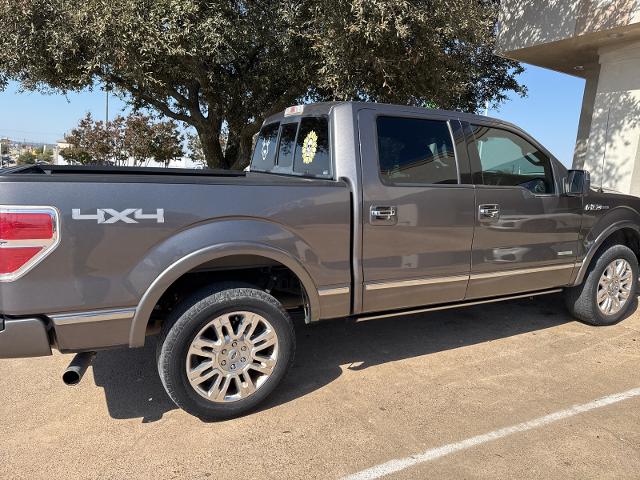
[[196, 293], [162, 328], [158, 372], [169, 397], [205, 420], [254, 409], [293, 360], [289, 315], [254, 288], [214, 286]]

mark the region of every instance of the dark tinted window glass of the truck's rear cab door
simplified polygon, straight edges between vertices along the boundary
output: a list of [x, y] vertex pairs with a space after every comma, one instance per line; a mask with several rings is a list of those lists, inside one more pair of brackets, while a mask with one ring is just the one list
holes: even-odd
[[378, 117], [378, 161], [386, 184], [455, 184], [458, 168], [446, 122]]

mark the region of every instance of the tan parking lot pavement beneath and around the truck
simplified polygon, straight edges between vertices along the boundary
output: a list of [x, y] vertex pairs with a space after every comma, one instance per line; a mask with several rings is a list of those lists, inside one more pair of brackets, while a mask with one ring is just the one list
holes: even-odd
[[219, 423], [171, 404], [148, 343], [78, 387], [69, 355], [0, 361], [0, 478], [377, 478], [395, 459], [415, 461], [385, 478], [640, 476], [637, 395], [438, 450], [640, 387], [640, 313], [588, 327], [554, 295], [299, 329], [279, 391]]

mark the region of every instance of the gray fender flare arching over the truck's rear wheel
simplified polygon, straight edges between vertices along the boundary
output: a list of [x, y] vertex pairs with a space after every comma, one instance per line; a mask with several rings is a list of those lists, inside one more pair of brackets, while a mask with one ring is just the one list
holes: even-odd
[[309, 301], [310, 320], [315, 321], [320, 314], [320, 300], [318, 289], [304, 266], [286, 252], [268, 245], [252, 242], [220, 243], [201, 248], [185, 255], [167, 267], [142, 296], [131, 323], [129, 346], [144, 346], [147, 324], [160, 297], [166, 290], [185, 273], [212, 260], [233, 255], [256, 255], [269, 258], [289, 268], [300, 280]]

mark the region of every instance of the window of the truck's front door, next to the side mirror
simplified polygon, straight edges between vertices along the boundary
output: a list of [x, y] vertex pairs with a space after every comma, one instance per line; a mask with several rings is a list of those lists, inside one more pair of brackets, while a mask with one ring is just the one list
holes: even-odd
[[547, 155], [507, 130], [479, 125], [472, 127], [480, 159], [474, 183], [518, 186], [537, 195], [554, 193], [553, 170]]

